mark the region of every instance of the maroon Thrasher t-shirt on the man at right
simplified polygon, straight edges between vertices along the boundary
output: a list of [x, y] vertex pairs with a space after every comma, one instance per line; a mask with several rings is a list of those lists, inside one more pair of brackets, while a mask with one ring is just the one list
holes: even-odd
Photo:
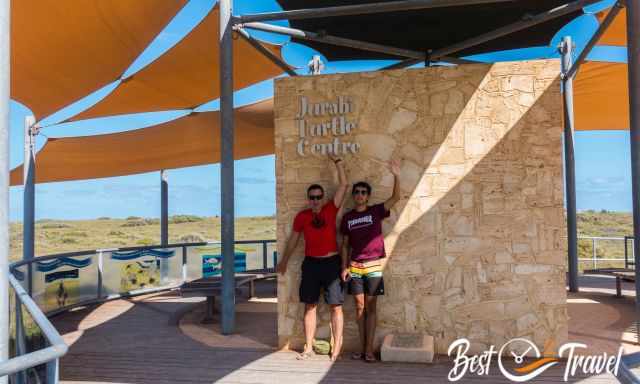
[[340, 232], [349, 236], [351, 260], [367, 261], [385, 257], [382, 219], [389, 217], [384, 204], [367, 207], [362, 212], [355, 209], [342, 217]]

